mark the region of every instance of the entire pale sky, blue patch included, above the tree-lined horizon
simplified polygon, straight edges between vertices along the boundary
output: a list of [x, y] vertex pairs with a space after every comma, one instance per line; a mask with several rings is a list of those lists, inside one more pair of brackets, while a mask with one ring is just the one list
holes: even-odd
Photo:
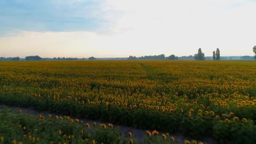
[[256, 0], [0, 0], [0, 57], [253, 56]]

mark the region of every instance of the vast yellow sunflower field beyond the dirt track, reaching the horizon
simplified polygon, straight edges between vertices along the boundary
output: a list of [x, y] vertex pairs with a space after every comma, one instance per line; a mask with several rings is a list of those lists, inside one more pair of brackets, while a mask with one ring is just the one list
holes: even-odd
[[0, 104], [253, 144], [256, 62], [0, 62]]

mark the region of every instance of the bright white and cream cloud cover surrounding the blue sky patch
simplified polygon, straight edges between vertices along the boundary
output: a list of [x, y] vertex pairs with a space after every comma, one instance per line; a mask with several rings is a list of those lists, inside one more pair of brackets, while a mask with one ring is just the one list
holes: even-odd
[[[78, 1], [78, 0], [72, 0]], [[21, 32], [0, 39], [0, 53], [44, 57], [253, 55], [255, 1], [102, 0], [90, 15], [107, 20], [95, 32]], [[86, 9], [87, 11], [88, 9]], [[88, 15], [87, 15], [88, 16]], [[42, 53], [42, 54], [41, 54]]]

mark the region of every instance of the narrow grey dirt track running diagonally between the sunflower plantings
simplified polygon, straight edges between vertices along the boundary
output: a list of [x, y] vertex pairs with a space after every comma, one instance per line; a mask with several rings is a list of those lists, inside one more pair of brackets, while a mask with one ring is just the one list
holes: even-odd
[[[13, 109], [13, 110], [22, 110], [22, 112], [25, 113], [25, 114], [44, 115], [44, 116], [50, 114], [53, 117], [57, 115], [57, 114], [55, 114], [53, 112], [47, 112], [47, 111], [40, 112], [40, 111], [37, 111], [35, 109], [31, 109], [31, 108], [7, 106], [7, 105], [0, 104], [0, 109], [5, 109], [5, 108]], [[58, 115], [58, 116], [64, 116], [64, 115]], [[76, 119], [76, 117], [70, 117], [70, 118]], [[106, 123], [106, 122], [101, 122], [101, 121], [97, 121], [97, 120], [89, 120], [89, 119], [86, 119], [86, 118], [77, 118], [77, 119], [83, 120], [84, 124], [85, 123], [89, 123], [90, 125], [93, 125], [93, 122], [96, 122], [96, 123], [103, 123], [103, 124], [108, 125], [108, 123]], [[128, 132], [133, 133], [133, 135], [135, 136], [135, 140], [138, 143], [143, 143], [144, 135], [146, 134], [146, 131], [147, 131], [147, 130], [141, 130], [141, 129], [137, 129], [137, 128], [133, 128], [133, 127], [128, 127], [128, 126], [123, 126], [123, 125], [115, 125], [115, 124], [114, 124], [114, 127], [119, 127], [120, 133], [122, 135], [128, 135]], [[162, 134], [162, 133], [160, 132], [160, 134]], [[183, 144], [183, 141], [188, 139], [187, 137], [182, 136], [181, 134], [170, 134], [170, 136], [174, 137], [174, 139], [177, 142], [177, 144]], [[204, 144], [216, 144], [216, 141], [211, 139], [211, 138], [201, 139], [201, 141]]]

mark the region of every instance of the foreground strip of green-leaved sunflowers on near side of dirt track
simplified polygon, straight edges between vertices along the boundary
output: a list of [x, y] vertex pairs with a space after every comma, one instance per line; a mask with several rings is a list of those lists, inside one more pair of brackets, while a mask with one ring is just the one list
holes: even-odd
[[113, 124], [92, 125], [69, 116], [33, 115], [22, 110], [0, 109], [0, 144], [203, 144], [175, 140], [168, 133], [145, 131], [144, 141], [136, 141], [132, 132], [120, 135]]

